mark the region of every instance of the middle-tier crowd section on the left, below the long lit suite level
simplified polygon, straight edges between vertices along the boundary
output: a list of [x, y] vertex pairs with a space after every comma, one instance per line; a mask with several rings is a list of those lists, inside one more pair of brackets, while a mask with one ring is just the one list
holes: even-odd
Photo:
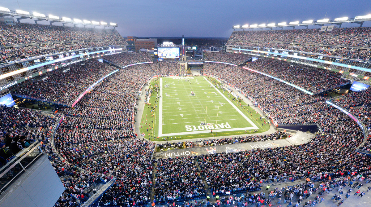
[[[96, 60], [85, 61], [71, 66], [66, 72], [56, 70], [37, 79], [24, 81], [16, 85], [12, 93], [45, 101], [72, 104], [82, 91], [116, 69]], [[46, 79], [43, 80], [44, 78]]]

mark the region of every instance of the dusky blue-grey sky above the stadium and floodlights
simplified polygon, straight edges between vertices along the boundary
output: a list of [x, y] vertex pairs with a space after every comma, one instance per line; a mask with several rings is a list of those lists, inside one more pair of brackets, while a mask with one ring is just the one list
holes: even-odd
[[326, 18], [329, 19], [371, 13], [370, 0], [18, 0], [18, 3], [17, 0], [8, 0], [2, 1], [0, 6], [10, 10], [21, 9], [30, 13], [53, 14], [71, 19], [114, 22], [118, 23], [116, 29], [122, 36], [142, 37], [229, 37], [233, 24], [318, 20], [323, 19], [326, 12]]

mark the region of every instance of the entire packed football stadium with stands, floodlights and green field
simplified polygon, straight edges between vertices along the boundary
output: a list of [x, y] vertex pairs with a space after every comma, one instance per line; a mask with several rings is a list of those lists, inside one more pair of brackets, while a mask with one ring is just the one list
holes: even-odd
[[1, 4], [1, 207], [371, 206], [371, 14], [223, 41]]

